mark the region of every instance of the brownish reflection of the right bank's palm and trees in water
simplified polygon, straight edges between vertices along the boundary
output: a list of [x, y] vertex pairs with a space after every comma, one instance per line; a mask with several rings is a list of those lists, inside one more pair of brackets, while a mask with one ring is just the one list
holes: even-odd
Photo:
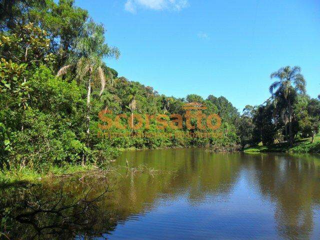
[[319, 157], [311, 155], [259, 154], [252, 156], [252, 184], [275, 203], [279, 235], [308, 239], [313, 229], [312, 207], [318, 204]]

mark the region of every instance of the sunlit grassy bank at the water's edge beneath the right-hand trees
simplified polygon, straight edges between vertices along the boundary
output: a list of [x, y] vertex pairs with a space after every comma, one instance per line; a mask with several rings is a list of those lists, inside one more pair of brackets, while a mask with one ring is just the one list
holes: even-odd
[[314, 137], [311, 143], [311, 137], [299, 139], [290, 147], [287, 142], [271, 144], [268, 146], [252, 146], [244, 148], [244, 152], [316, 152], [320, 153], [320, 135]]

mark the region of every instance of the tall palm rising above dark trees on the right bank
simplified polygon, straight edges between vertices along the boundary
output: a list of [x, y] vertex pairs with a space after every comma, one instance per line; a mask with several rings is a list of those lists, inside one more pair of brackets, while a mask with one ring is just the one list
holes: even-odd
[[305, 79], [300, 72], [301, 68], [299, 66], [293, 66], [292, 68], [285, 66], [270, 75], [271, 79], [277, 78], [269, 87], [272, 97], [279, 100], [283, 99], [287, 108], [290, 146], [293, 144], [292, 104], [297, 93], [305, 94]]

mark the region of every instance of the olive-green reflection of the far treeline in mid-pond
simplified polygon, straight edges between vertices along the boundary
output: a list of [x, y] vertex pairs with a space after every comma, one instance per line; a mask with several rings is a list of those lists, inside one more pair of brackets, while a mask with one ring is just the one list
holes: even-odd
[[[151, 154], [152, 153], [152, 154]], [[154, 200], [161, 195], [174, 200], [184, 194], [190, 204], [205, 201], [206, 196], [228, 194], [236, 183], [241, 163], [237, 154], [212, 154], [203, 149], [160, 149], [152, 151], [124, 152], [117, 164], [146, 165], [161, 169], [163, 174], [136, 174], [123, 177], [114, 192], [114, 205], [123, 216], [150, 210]], [[124, 168], [123, 168], [124, 169]], [[124, 218], [125, 218], [124, 217]]]

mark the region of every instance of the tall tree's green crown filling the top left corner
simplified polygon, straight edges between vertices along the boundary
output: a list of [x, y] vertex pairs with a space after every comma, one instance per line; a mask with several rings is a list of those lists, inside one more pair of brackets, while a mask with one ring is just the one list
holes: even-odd
[[87, 18], [87, 10], [75, 6], [74, 0], [0, 1], [0, 30], [19, 32], [27, 22], [45, 30], [49, 51], [56, 55], [55, 69], [63, 66], [74, 50], [74, 41], [82, 34]]

